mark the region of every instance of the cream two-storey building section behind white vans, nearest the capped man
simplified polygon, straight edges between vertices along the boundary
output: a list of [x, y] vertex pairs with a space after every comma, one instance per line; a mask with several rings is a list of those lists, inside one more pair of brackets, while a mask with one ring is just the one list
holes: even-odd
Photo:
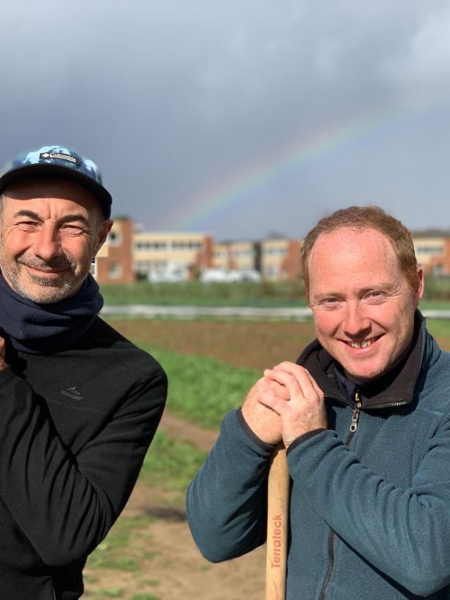
[[136, 232], [133, 266], [140, 279], [191, 278], [196, 271], [212, 266], [212, 237], [205, 233]]

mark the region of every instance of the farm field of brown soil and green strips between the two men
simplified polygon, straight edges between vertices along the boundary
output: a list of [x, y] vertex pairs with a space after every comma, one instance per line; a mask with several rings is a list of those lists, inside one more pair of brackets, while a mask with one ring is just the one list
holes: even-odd
[[[167, 411], [139, 482], [85, 569], [91, 600], [259, 600], [264, 548], [212, 565], [188, 531], [184, 493], [217, 437], [221, 417], [240, 405], [267, 366], [295, 360], [314, 337], [311, 322], [114, 320], [169, 375]], [[430, 320], [450, 349], [450, 322]]]

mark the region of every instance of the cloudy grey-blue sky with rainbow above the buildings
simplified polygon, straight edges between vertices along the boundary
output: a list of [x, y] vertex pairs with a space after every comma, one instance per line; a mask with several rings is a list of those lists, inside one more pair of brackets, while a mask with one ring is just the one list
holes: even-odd
[[22, 0], [1, 38], [0, 165], [77, 150], [145, 230], [450, 229], [449, 0]]

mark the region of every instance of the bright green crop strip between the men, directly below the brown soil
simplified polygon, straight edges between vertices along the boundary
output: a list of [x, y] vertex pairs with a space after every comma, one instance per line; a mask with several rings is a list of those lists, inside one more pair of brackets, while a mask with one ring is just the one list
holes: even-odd
[[240, 406], [250, 387], [262, 377], [257, 369], [231, 367], [214, 358], [133, 341], [164, 367], [169, 378], [169, 410], [207, 428], [217, 428], [226, 412]]

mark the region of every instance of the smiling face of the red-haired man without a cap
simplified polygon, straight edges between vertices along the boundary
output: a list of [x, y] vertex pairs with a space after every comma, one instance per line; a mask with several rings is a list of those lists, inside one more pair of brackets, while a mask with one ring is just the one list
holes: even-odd
[[320, 235], [309, 256], [309, 304], [322, 346], [347, 377], [380, 377], [404, 356], [423, 294], [406, 282], [390, 241], [373, 228]]

